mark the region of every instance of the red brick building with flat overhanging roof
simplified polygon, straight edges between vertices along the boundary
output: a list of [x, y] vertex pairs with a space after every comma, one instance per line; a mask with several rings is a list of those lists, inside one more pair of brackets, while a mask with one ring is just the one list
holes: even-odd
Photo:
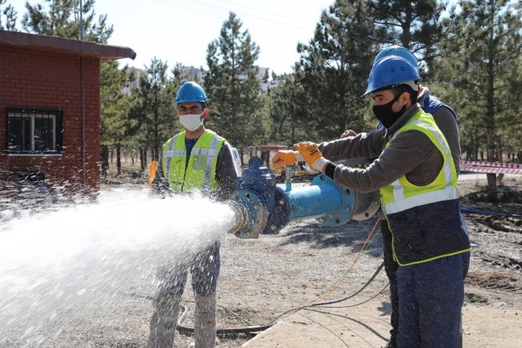
[[99, 64], [128, 47], [0, 30], [0, 181], [99, 188]]

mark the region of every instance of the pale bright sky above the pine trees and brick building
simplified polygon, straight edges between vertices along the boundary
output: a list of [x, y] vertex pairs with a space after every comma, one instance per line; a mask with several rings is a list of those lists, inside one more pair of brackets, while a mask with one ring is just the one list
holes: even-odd
[[[44, 0], [30, 0], [44, 4]], [[25, 0], [8, 0], [18, 11], [18, 28], [25, 13]], [[131, 47], [138, 54], [134, 61], [121, 64], [137, 68], [157, 58], [206, 67], [207, 46], [219, 37], [229, 11], [233, 11], [260, 46], [257, 65], [276, 73], [289, 73], [298, 60], [298, 42], [308, 42], [322, 9], [334, 0], [97, 0], [97, 15], [107, 14], [114, 25], [109, 44]]]

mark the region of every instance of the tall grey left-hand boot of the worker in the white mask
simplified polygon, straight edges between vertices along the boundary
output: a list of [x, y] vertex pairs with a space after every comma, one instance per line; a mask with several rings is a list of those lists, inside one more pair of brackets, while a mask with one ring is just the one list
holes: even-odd
[[161, 296], [154, 300], [148, 348], [174, 347], [174, 333], [180, 303], [181, 296]]

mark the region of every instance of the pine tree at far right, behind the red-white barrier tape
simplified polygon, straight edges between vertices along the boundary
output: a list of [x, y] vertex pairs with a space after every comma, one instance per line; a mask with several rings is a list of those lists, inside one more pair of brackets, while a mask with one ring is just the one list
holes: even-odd
[[[520, 2], [509, 0], [461, 1], [453, 13], [452, 59], [447, 71], [467, 100], [463, 118], [472, 120], [487, 141], [486, 160], [502, 160], [502, 143], [510, 143], [520, 131], [522, 40]], [[497, 200], [496, 175], [487, 174], [488, 193]]]

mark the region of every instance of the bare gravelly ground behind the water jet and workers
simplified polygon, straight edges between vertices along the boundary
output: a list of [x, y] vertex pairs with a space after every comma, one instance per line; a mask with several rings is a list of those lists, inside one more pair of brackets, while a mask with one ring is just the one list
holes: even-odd
[[[520, 181], [511, 186], [516, 184]], [[463, 206], [522, 212], [520, 203], [491, 205], [466, 198], [478, 188], [477, 184], [461, 188]], [[472, 252], [465, 306], [522, 310], [521, 218], [467, 214], [466, 222], [478, 248]], [[315, 220], [306, 220], [293, 222], [281, 233], [262, 235], [260, 239], [224, 235], [217, 291], [218, 328], [244, 328], [277, 321], [286, 311], [315, 301], [341, 277], [343, 281], [328, 299], [356, 292], [382, 263], [378, 231], [356, 261], [374, 223], [375, 218], [348, 222], [341, 227], [324, 227]], [[145, 347], [152, 313], [149, 296], [154, 294], [154, 270], [143, 268], [127, 277], [123, 287], [114, 284], [88, 301], [56, 306], [50, 318], [35, 318], [26, 313], [25, 320], [17, 325], [0, 329], [0, 347]], [[383, 270], [361, 296], [377, 294], [386, 284]], [[387, 291], [384, 289], [384, 298]], [[190, 287], [184, 299], [188, 315], [183, 324], [190, 327], [193, 324]], [[357, 303], [357, 296], [352, 301]], [[389, 303], [384, 302], [382, 313], [389, 315]], [[473, 328], [473, 323], [466, 324]], [[518, 330], [522, 337], [522, 329]], [[217, 347], [241, 347], [253, 335], [221, 336]], [[176, 335], [176, 347], [186, 347], [189, 342], [187, 335]]]

